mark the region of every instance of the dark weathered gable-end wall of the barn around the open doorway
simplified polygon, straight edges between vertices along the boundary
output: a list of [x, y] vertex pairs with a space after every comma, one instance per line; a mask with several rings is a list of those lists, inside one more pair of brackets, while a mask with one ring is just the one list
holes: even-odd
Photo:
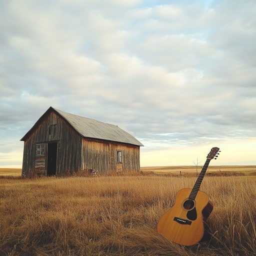
[[[66, 121], [51, 112], [41, 120], [40, 124], [24, 141], [22, 175], [46, 174], [47, 143], [49, 142], [57, 142], [56, 175], [79, 169], [81, 164], [81, 136], [67, 125]], [[42, 157], [35, 155], [37, 143], [44, 143], [45, 145], [44, 164]]]

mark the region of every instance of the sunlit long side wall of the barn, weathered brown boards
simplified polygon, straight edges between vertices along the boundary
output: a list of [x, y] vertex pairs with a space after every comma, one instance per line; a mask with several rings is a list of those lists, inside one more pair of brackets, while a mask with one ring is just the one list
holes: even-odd
[[[122, 151], [122, 162], [118, 163], [116, 151]], [[83, 138], [82, 169], [102, 171], [139, 170], [139, 146]]]

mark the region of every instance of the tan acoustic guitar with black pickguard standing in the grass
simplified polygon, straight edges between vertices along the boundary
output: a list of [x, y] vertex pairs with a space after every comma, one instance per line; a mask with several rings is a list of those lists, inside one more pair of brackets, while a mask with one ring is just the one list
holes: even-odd
[[203, 238], [205, 221], [213, 206], [208, 195], [199, 191], [199, 187], [210, 160], [216, 159], [218, 152], [218, 147], [211, 148], [193, 188], [182, 188], [176, 193], [174, 205], [159, 219], [158, 233], [186, 246], [193, 245]]

